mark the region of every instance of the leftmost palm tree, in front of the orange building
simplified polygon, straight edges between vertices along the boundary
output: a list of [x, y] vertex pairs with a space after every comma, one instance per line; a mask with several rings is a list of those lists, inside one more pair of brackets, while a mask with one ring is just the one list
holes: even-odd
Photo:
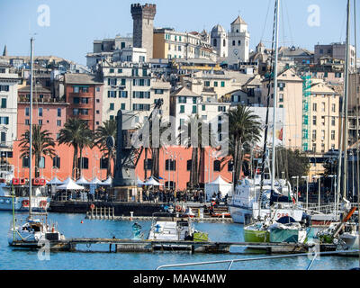
[[[30, 130], [26, 130], [20, 139], [21, 157], [29, 157]], [[41, 125], [32, 125], [32, 155], [35, 157], [35, 177], [40, 176], [40, 159], [42, 155], [54, 157], [55, 142], [49, 130], [42, 130]]]

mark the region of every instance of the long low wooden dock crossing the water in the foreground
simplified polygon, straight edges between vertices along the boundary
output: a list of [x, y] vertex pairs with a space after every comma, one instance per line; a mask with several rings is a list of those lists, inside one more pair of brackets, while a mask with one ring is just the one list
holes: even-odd
[[[252, 242], [195, 242], [169, 240], [143, 240], [118, 238], [68, 238], [60, 241], [49, 241], [51, 250], [76, 251], [76, 245], [93, 244], [109, 245], [109, 252], [155, 252], [155, 251], [188, 251], [190, 253], [229, 253], [230, 247], [247, 247], [264, 250], [266, 254], [306, 253], [311, 245], [297, 243], [252, 243]], [[40, 248], [43, 244], [14, 242], [14, 247]], [[320, 245], [320, 251], [333, 251], [334, 245]]]

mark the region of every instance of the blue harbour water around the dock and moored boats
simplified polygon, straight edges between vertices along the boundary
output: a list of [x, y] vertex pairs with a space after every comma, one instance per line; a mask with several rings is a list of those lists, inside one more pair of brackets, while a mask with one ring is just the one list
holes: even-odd
[[[7, 231], [12, 213], [0, 211], [0, 269], [1, 270], [154, 270], [157, 266], [259, 257], [262, 255], [241, 255], [244, 248], [231, 248], [231, 254], [188, 254], [188, 253], [108, 253], [108, 245], [77, 246], [76, 252], [51, 252], [49, 261], [40, 261], [37, 251], [14, 250], [8, 246]], [[84, 215], [49, 213], [49, 219], [58, 221], [58, 228], [67, 238], [132, 238], [131, 221], [85, 220]], [[84, 223], [81, 224], [81, 220]], [[148, 236], [150, 221], [139, 221], [142, 231]], [[194, 223], [195, 228], [206, 231], [213, 241], [243, 241], [242, 225], [222, 223]], [[90, 251], [97, 251], [90, 253]], [[232, 270], [298, 270], [310, 263], [306, 257], [273, 259], [235, 263]], [[321, 257], [311, 269], [351, 269], [358, 266], [356, 257]], [[186, 269], [227, 269], [227, 264], [188, 266]]]

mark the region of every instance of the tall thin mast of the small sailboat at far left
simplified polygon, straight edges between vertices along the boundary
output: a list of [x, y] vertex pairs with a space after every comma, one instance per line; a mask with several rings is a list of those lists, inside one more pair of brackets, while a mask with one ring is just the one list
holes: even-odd
[[32, 90], [33, 90], [33, 38], [31, 37], [30, 63], [30, 136], [29, 136], [29, 219], [31, 219], [31, 192], [32, 192]]

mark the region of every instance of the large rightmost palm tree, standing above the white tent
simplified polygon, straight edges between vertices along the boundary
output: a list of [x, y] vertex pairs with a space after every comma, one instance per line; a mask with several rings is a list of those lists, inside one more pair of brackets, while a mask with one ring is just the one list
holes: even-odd
[[242, 172], [244, 144], [260, 139], [261, 123], [256, 114], [242, 105], [229, 110], [227, 115], [229, 116], [229, 153], [234, 163], [233, 183], [238, 184], [238, 178]]

